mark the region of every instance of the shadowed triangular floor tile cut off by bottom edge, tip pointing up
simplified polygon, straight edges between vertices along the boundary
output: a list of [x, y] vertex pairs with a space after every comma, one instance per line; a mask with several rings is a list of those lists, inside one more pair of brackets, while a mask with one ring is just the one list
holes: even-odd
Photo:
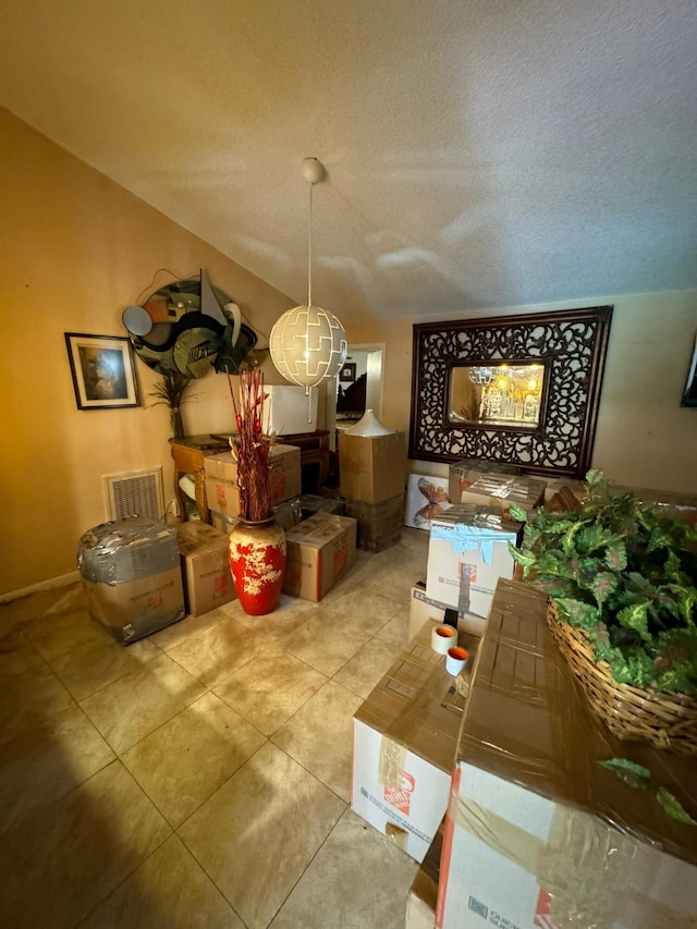
[[245, 929], [176, 835], [111, 894], [81, 929]]

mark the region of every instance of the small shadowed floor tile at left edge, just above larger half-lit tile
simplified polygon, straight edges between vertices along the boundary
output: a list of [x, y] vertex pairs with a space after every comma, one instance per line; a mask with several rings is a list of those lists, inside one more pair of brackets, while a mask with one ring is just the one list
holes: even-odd
[[0, 677], [0, 745], [74, 704], [46, 664]]

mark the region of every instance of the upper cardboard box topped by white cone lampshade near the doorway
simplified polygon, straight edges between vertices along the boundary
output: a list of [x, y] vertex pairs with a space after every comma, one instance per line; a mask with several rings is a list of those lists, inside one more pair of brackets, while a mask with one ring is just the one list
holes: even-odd
[[380, 503], [404, 493], [404, 432], [389, 436], [339, 436], [339, 485], [344, 497]]

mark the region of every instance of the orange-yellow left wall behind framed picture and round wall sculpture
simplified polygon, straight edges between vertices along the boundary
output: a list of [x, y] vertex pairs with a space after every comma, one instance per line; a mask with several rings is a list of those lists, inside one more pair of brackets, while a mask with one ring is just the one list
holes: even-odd
[[[2, 595], [76, 570], [81, 535], [106, 518], [102, 475], [161, 464], [173, 497], [168, 411], [145, 406], [157, 376], [136, 362], [139, 408], [78, 411], [64, 332], [125, 335], [121, 313], [158, 268], [206, 268], [265, 333], [260, 345], [294, 304], [1, 109], [0, 137]], [[195, 396], [189, 435], [232, 428], [222, 375]]]

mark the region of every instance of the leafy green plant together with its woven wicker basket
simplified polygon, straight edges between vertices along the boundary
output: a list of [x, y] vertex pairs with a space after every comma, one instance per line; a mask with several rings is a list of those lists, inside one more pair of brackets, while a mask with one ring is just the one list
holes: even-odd
[[[697, 531], [633, 493], [612, 494], [599, 470], [577, 510], [539, 509], [533, 523], [519, 508], [511, 514], [526, 523], [513, 558], [549, 595], [550, 627], [594, 708], [621, 737], [648, 725], [649, 741], [668, 745], [681, 732], [682, 748], [697, 750]], [[658, 722], [637, 720], [627, 700], [658, 701]]]

